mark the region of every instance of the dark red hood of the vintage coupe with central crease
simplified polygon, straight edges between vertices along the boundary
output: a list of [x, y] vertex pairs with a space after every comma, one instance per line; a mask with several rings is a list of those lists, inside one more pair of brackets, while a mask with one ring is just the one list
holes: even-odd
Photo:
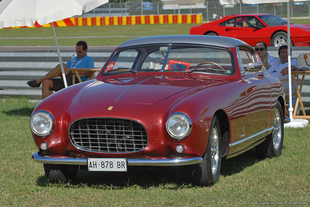
[[184, 76], [136, 76], [98, 80], [86, 88], [80, 103], [124, 101], [155, 104], [182, 91], [191, 91], [220, 80]]

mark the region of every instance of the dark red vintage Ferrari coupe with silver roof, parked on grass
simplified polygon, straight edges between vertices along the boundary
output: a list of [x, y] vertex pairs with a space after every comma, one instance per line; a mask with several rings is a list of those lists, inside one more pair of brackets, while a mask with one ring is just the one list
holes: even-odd
[[[219, 179], [221, 160], [283, 146], [283, 86], [243, 41], [155, 36], [126, 41], [95, 80], [64, 88], [34, 109], [30, 127], [51, 182], [79, 169], [186, 165], [197, 185]], [[103, 174], [104, 176], [104, 174]]]

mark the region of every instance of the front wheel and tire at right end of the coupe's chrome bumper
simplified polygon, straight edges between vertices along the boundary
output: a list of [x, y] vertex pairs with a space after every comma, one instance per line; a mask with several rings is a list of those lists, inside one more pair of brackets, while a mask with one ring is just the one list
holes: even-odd
[[220, 148], [221, 130], [219, 119], [214, 115], [203, 160], [199, 164], [191, 165], [193, 182], [198, 186], [211, 186], [219, 181], [222, 161]]

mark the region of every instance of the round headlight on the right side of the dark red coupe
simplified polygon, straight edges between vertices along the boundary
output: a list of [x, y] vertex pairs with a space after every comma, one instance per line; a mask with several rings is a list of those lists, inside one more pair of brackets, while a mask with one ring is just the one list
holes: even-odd
[[168, 118], [166, 128], [173, 138], [184, 139], [192, 131], [192, 122], [188, 115], [176, 112]]

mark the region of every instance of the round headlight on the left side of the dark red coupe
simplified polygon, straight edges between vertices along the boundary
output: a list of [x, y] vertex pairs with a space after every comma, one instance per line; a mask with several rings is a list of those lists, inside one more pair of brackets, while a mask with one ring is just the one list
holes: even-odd
[[34, 114], [30, 120], [32, 131], [39, 136], [48, 135], [53, 129], [53, 119], [47, 111]]

